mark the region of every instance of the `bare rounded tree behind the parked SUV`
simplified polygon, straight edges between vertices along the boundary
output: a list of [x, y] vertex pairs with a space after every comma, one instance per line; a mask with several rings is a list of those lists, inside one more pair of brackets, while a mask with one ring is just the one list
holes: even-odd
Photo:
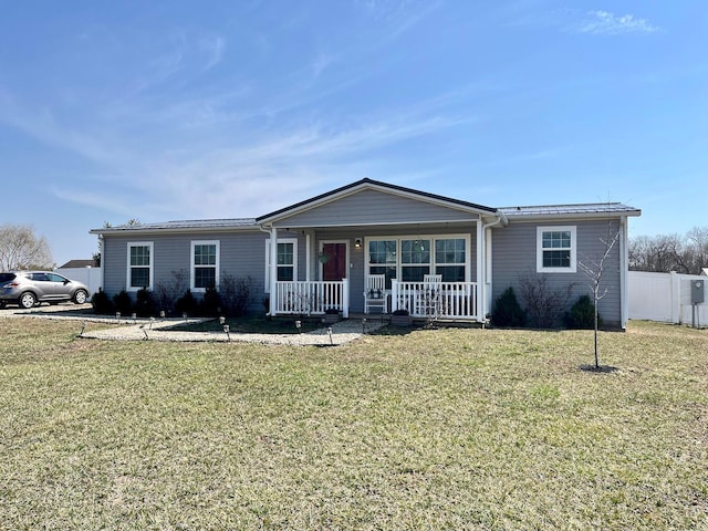
[[0, 269], [50, 269], [52, 253], [44, 238], [28, 225], [0, 227]]

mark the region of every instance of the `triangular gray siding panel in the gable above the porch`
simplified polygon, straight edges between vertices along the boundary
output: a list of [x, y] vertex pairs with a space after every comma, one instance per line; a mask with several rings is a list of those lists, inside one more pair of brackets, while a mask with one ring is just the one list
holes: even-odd
[[376, 190], [362, 190], [278, 221], [279, 227], [369, 226], [405, 222], [475, 220], [461, 209], [409, 199]]

